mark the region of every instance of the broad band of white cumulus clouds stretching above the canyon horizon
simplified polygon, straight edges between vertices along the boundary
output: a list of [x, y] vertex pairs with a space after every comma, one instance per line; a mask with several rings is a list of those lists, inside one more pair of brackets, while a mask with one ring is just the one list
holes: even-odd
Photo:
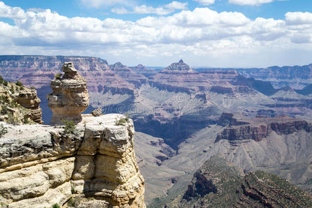
[[[169, 3], [162, 8], [183, 6]], [[289, 57], [312, 54], [311, 12], [287, 12], [284, 19], [249, 19], [241, 12], [196, 8], [166, 17], [126, 21], [70, 18], [49, 9], [26, 11], [0, 1], [0, 17], [15, 22], [10, 25], [0, 21], [0, 50], [7, 54], [94, 55], [132, 61], [187, 55], [199, 62], [207, 60], [203, 58], [207, 56], [221, 64], [238, 62], [239, 57], [250, 54], [258, 59], [268, 56], [268, 60], [272, 60], [269, 55], [284, 54], [287, 50], [293, 54]], [[303, 50], [302, 54], [298, 52]], [[259, 63], [263, 61], [260, 59]]]

